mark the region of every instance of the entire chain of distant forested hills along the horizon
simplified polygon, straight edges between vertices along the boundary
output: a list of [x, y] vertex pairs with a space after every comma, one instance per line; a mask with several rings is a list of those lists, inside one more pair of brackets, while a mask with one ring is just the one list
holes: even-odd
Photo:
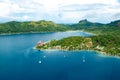
[[115, 34], [120, 31], [120, 20], [112, 21], [109, 24], [93, 23], [87, 19], [79, 21], [76, 24], [56, 24], [52, 21], [28, 21], [17, 22], [11, 21], [0, 24], [0, 34], [2, 33], [24, 33], [24, 32], [55, 32], [67, 30], [85, 30], [92, 33], [113, 32]]

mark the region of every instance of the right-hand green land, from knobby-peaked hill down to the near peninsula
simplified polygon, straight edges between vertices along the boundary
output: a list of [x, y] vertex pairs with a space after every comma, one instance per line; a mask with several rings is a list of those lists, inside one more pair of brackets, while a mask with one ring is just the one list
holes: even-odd
[[72, 36], [61, 40], [36, 46], [37, 49], [59, 50], [97, 50], [109, 55], [120, 56], [120, 20], [109, 24], [91, 23], [82, 20], [77, 24], [69, 25], [72, 30], [84, 30], [97, 35], [90, 37]]

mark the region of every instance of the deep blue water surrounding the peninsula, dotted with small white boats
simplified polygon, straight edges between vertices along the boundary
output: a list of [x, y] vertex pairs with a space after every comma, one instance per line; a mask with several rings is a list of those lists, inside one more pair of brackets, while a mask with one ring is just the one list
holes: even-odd
[[37, 51], [41, 41], [84, 32], [0, 36], [0, 80], [120, 80], [120, 59], [93, 51]]

